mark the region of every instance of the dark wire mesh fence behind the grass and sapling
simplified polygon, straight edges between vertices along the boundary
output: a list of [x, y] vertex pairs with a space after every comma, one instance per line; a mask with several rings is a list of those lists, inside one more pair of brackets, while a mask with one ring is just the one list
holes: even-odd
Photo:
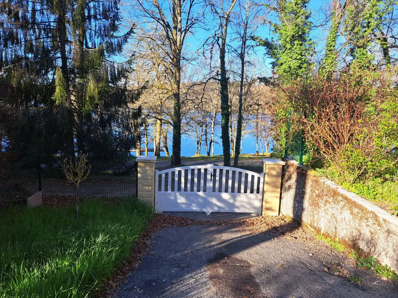
[[[0, 168], [0, 207], [23, 205], [41, 191], [43, 204], [64, 206], [76, 198], [76, 186], [66, 180], [62, 159], [43, 161], [39, 155]], [[137, 163], [124, 161], [92, 166], [88, 178], [79, 186], [79, 198], [100, 198], [118, 203], [123, 197], [137, 196]]]

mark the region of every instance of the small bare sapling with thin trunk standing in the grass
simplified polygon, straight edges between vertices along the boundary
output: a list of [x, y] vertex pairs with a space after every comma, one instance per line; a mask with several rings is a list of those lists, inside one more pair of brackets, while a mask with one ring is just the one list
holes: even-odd
[[66, 179], [76, 186], [76, 217], [79, 217], [79, 185], [86, 180], [90, 174], [91, 165], [87, 164], [87, 153], [80, 152], [78, 156], [73, 159], [64, 159], [62, 162], [62, 171]]

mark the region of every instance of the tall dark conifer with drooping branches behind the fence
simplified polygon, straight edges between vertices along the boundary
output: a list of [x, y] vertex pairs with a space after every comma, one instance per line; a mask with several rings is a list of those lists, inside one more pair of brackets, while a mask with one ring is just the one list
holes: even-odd
[[135, 121], [122, 118], [140, 117], [128, 108], [140, 90], [127, 89], [130, 63], [112, 61], [133, 33], [119, 31], [118, 1], [2, 0], [0, 18], [1, 77], [17, 95], [10, 106], [56, 114], [65, 154], [105, 148], [98, 139], [115, 153], [135, 145]]

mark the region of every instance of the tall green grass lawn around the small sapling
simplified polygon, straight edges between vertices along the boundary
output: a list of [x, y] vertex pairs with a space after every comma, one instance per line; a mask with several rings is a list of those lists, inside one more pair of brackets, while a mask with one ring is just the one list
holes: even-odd
[[152, 210], [121, 205], [10, 209], [0, 214], [0, 297], [90, 297], [130, 252]]

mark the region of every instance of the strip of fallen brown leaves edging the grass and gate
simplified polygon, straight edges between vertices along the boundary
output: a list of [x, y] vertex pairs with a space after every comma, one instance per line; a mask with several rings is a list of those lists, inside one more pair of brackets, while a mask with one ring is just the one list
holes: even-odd
[[258, 216], [239, 220], [198, 220], [187, 217], [165, 215], [156, 213], [148, 228], [142, 232], [139, 239], [131, 247], [129, 257], [123, 261], [119, 269], [107, 279], [103, 284], [103, 291], [99, 292], [97, 297], [114, 297], [119, 284], [125, 281], [126, 276], [141, 263], [142, 255], [148, 252], [151, 246], [151, 238], [154, 234], [160, 232], [163, 228], [183, 227], [191, 225], [229, 225], [240, 230], [250, 231], [254, 234], [268, 232], [275, 237], [291, 237], [297, 239], [304, 236], [309, 237], [306, 230], [301, 228], [295, 222], [285, 221], [282, 217]]

